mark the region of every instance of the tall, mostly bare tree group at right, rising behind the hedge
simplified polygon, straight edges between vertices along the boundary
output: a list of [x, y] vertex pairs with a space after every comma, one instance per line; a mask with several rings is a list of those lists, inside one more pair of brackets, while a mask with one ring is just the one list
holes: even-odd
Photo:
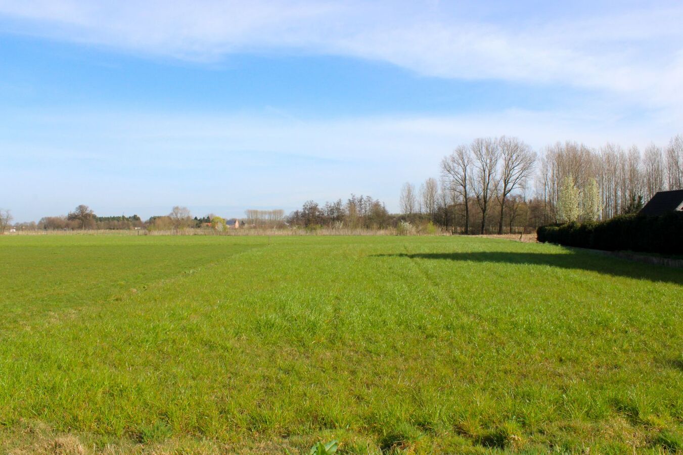
[[477, 138], [445, 156], [439, 171], [438, 179], [428, 178], [419, 188], [403, 185], [404, 219], [463, 234], [531, 231], [567, 219], [561, 189], [568, 182], [573, 192], [564, 195], [581, 208], [568, 216], [591, 220], [635, 212], [657, 191], [682, 189], [683, 136], [643, 152], [572, 141], [535, 152], [516, 137]]

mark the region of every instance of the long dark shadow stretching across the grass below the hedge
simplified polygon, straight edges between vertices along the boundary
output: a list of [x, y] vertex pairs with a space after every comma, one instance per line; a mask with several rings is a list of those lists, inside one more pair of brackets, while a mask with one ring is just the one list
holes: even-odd
[[683, 273], [680, 268], [667, 268], [640, 262], [631, 262], [609, 256], [599, 256], [587, 252], [556, 253], [518, 253], [512, 251], [483, 251], [462, 253], [395, 253], [376, 254], [374, 257], [395, 257], [410, 259], [433, 259], [470, 262], [499, 262], [501, 264], [546, 265], [559, 268], [594, 271], [619, 277], [663, 281], [683, 286]]

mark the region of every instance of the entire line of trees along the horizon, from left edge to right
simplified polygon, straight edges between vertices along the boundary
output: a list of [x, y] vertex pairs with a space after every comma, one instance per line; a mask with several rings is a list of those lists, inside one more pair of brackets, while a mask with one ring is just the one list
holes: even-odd
[[[598, 221], [637, 212], [657, 191], [674, 189], [683, 189], [683, 135], [673, 137], [667, 146], [652, 143], [643, 151], [637, 146], [626, 150], [607, 143], [596, 149], [566, 141], [536, 152], [516, 137], [481, 137], [444, 156], [437, 178], [428, 178], [419, 187], [406, 182], [400, 191], [399, 214], [392, 215], [371, 196], [352, 194], [346, 201], [322, 205], [309, 200], [286, 216], [279, 209], [246, 210], [240, 223], [307, 229], [438, 225], [462, 234], [519, 233], [561, 221]], [[11, 221], [10, 211], [0, 210], [0, 232]], [[28, 230], [223, 229], [225, 220], [214, 214], [192, 218], [182, 206], [147, 221], [137, 215], [98, 217], [81, 205], [68, 215], [16, 226]]]

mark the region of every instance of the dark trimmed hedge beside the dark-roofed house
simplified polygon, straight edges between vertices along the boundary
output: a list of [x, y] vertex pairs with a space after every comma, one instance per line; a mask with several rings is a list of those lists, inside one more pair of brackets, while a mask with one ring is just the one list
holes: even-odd
[[541, 226], [539, 242], [569, 247], [683, 254], [683, 212], [660, 217], [621, 215], [600, 223]]

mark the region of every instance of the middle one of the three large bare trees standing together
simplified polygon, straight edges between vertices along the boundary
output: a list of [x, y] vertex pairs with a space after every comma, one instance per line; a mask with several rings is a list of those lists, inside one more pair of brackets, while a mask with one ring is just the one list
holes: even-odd
[[477, 205], [482, 210], [481, 233], [484, 234], [490, 202], [499, 183], [498, 163], [501, 158], [501, 150], [498, 141], [490, 137], [475, 139], [470, 148], [474, 163], [470, 186], [477, 200]]

